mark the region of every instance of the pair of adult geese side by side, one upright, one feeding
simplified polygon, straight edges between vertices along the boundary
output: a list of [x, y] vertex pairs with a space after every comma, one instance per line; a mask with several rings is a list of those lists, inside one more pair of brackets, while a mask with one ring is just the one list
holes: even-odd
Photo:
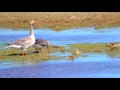
[[6, 48], [19, 48], [22, 50], [22, 56], [25, 56], [27, 48], [33, 46], [37, 52], [41, 51], [42, 48], [47, 47], [49, 50], [50, 43], [47, 40], [43, 39], [35, 39], [33, 32], [33, 25], [36, 24], [37, 21], [31, 20], [30, 22], [30, 34], [28, 37], [21, 38], [17, 41], [11, 42], [8, 44]]

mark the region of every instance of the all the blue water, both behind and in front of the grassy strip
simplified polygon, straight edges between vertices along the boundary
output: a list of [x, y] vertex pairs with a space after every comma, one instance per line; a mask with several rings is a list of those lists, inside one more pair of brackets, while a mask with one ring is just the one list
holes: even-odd
[[[95, 30], [94, 27], [64, 31], [50, 29], [34, 30], [36, 38], [43, 38], [53, 45], [67, 46], [75, 43], [119, 42], [120, 27]], [[13, 31], [0, 29], [0, 50], [4, 44], [28, 36], [29, 30]], [[104, 53], [84, 53], [75, 60], [66, 60], [71, 53], [55, 52], [51, 55], [64, 57], [61, 60], [49, 60], [32, 64], [26, 62], [0, 61], [0, 77], [40, 77], [40, 78], [117, 78], [120, 77], [120, 58], [109, 57]], [[22, 74], [21, 74], [22, 73]]]

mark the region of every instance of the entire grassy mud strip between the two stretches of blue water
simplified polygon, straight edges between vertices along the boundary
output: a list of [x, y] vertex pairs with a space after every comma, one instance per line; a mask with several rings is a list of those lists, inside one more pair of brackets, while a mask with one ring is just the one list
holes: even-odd
[[[13, 60], [13, 61], [31, 61], [33, 63], [37, 63], [39, 61], [45, 60], [59, 60], [63, 59], [62, 56], [52, 55], [55, 52], [69, 52], [75, 53], [75, 50], [78, 49], [80, 52], [83, 53], [104, 53], [107, 54], [109, 57], [120, 57], [120, 48], [110, 50], [109, 47], [106, 47], [106, 43], [95, 43], [95, 44], [70, 44], [69, 49], [66, 49], [61, 46], [51, 46], [50, 47], [50, 54], [48, 53], [46, 48], [42, 49], [41, 53], [34, 53], [35, 49], [33, 47], [28, 48], [27, 55], [21, 56], [21, 50], [17, 49], [7, 49], [0, 51], [0, 60]], [[81, 56], [81, 55], [79, 55]]]

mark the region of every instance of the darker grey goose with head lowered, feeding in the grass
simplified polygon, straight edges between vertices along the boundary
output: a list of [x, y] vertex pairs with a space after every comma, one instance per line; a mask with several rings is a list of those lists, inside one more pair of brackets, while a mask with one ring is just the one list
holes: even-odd
[[39, 50], [41, 52], [42, 48], [47, 47], [47, 49], [50, 53], [50, 50], [49, 50], [50, 43], [47, 40], [43, 40], [43, 39], [38, 38], [35, 40], [35, 44], [33, 47], [36, 49], [37, 52], [39, 52]]

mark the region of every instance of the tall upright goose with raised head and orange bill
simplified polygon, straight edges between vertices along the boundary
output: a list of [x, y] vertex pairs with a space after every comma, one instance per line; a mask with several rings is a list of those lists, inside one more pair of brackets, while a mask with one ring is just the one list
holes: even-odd
[[30, 35], [28, 37], [21, 38], [15, 42], [9, 43], [6, 48], [18, 48], [22, 50], [22, 56], [25, 55], [25, 51], [27, 48], [31, 47], [35, 43], [35, 36], [33, 32], [33, 24], [37, 23], [37, 21], [32, 20], [30, 22]]

